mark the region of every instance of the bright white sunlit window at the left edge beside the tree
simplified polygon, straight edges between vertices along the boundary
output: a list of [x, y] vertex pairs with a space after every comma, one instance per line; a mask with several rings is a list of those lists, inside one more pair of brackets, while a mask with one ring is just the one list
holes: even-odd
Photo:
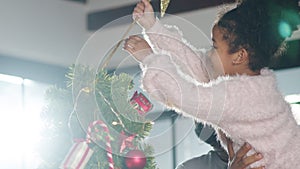
[[49, 85], [0, 74], [0, 168], [32, 169]]

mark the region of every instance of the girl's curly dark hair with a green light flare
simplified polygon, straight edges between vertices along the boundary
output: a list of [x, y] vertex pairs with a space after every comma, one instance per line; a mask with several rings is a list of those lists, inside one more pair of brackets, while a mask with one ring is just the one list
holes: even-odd
[[286, 37], [279, 32], [281, 22], [291, 32], [300, 23], [298, 0], [243, 0], [224, 13], [216, 25], [229, 45], [229, 53], [244, 48], [252, 71], [269, 66], [273, 57], [284, 51]]

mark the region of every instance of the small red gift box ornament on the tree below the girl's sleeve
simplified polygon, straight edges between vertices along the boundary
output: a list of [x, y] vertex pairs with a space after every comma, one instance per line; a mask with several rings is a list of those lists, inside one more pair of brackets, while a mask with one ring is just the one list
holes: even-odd
[[138, 111], [139, 114], [143, 115], [152, 109], [152, 103], [142, 93], [134, 92], [130, 99], [131, 105]]

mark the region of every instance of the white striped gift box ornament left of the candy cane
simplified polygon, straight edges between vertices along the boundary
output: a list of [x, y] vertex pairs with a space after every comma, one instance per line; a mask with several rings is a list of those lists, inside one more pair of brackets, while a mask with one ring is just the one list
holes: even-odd
[[84, 169], [92, 154], [93, 150], [89, 148], [85, 140], [76, 140], [60, 169]]

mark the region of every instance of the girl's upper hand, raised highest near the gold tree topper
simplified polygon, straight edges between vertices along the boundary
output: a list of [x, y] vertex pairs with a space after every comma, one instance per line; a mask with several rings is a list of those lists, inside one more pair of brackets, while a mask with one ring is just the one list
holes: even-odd
[[149, 0], [142, 0], [137, 3], [133, 10], [133, 19], [144, 29], [151, 28], [156, 19], [154, 17], [153, 8]]

